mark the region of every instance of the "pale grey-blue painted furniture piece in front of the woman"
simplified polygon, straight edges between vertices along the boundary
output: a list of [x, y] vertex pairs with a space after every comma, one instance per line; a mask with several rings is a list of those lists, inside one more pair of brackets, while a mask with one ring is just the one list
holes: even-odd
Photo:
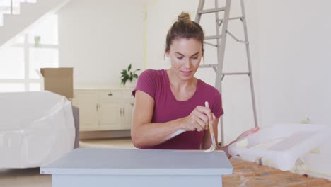
[[232, 172], [224, 152], [158, 149], [74, 149], [40, 168], [53, 187], [219, 187]]

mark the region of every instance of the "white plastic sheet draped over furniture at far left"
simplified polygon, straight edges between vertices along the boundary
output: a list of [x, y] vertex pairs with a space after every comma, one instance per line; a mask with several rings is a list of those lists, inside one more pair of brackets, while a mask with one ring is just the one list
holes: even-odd
[[64, 96], [0, 93], [0, 113], [0, 168], [42, 166], [74, 149], [74, 117]]

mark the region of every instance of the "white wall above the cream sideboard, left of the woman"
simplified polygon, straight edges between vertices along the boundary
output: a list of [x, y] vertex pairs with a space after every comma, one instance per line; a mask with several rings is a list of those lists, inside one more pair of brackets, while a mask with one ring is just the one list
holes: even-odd
[[143, 9], [129, 0], [72, 0], [59, 15], [59, 67], [74, 84], [120, 85], [120, 72], [142, 67]]

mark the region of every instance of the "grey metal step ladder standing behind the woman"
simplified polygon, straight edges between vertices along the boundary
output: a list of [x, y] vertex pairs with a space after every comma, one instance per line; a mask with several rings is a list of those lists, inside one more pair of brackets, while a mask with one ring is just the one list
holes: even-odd
[[[256, 106], [255, 106], [255, 91], [254, 91], [254, 84], [252, 80], [252, 68], [250, 65], [250, 47], [248, 42], [248, 33], [247, 33], [247, 24], [246, 24], [246, 18], [245, 18], [245, 7], [243, 0], [240, 0], [241, 4], [241, 13], [242, 16], [240, 17], [234, 17], [230, 18], [230, 8], [231, 8], [231, 1], [232, 0], [226, 0], [226, 6], [225, 7], [219, 7], [218, 0], [215, 0], [215, 8], [204, 10], [204, 0], [199, 1], [199, 6], [197, 9], [197, 16], [195, 18], [195, 22], [199, 23], [200, 19], [202, 17], [202, 14], [205, 13], [215, 13], [216, 16], [216, 35], [211, 36], [205, 36], [204, 37], [204, 44], [211, 45], [214, 47], [217, 47], [217, 64], [202, 64], [199, 67], [201, 68], [213, 68], [216, 72], [216, 89], [219, 90], [220, 93], [222, 93], [222, 86], [221, 82], [225, 76], [231, 76], [231, 75], [248, 75], [250, 79], [250, 91], [252, 96], [252, 110], [254, 115], [254, 123], [255, 127], [257, 127], [257, 113], [256, 113]], [[219, 12], [223, 12], [224, 16], [223, 18], [219, 18]], [[235, 35], [230, 33], [228, 31], [228, 21], [233, 20], [240, 20], [243, 22], [243, 31], [245, 33], [245, 40], [239, 40], [236, 38]], [[223, 26], [222, 26], [223, 25]], [[220, 27], [222, 26], [221, 33], [220, 33]], [[223, 62], [224, 62], [224, 54], [226, 49], [226, 36], [229, 35], [231, 38], [236, 40], [237, 42], [243, 43], [246, 47], [246, 56], [247, 56], [247, 62], [248, 62], [248, 72], [223, 72]], [[216, 40], [216, 45], [207, 42], [206, 40]], [[224, 144], [224, 126], [223, 126], [223, 118], [221, 118], [221, 145]]]

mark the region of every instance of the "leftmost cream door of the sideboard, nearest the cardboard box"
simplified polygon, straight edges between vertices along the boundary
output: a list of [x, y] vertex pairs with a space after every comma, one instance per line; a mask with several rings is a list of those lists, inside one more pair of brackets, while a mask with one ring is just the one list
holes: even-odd
[[98, 130], [98, 93], [96, 91], [75, 91], [72, 103], [79, 107], [80, 130]]

